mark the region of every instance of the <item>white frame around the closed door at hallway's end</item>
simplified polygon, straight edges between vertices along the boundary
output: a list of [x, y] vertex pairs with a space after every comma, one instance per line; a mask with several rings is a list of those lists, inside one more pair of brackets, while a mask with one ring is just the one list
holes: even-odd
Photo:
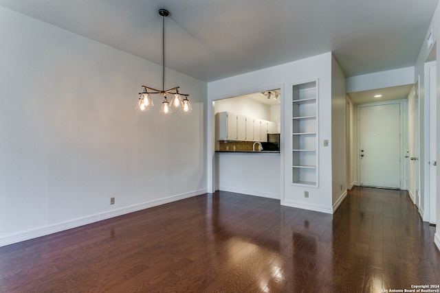
[[391, 101], [383, 101], [383, 102], [372, 102], [372, 103], [364, 103], [364, 104], [358, 104], [357, 112], [358, 112], [358, 150], [356, 150], [356, 156], [358, 161], [358, 174], [359, 174], [359, 183], [360, 183], [360, 109], [362, 107], [369, 107], [369, 106], [384, 106], [389, 104], [399, 104], [400, 109], [400, 139], [399, 139], [399, 149], [400, 149], [400, 167], [399, 167], [399, 178], [400, 178], [400, 189], [404, 186], [404, 174], [406, 174], [404, 170], [404, 136], [402, 135], [404, 133], [404, 104], [406, 103], [406, 100], [404, 99], [393, 99]]

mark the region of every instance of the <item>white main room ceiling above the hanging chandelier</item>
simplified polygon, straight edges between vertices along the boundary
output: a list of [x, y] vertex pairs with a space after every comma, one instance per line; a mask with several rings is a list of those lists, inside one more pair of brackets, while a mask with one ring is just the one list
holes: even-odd
[[333, 51], [347, 77], [415, 64], [439, 0], [0, 0], [206, 82]]

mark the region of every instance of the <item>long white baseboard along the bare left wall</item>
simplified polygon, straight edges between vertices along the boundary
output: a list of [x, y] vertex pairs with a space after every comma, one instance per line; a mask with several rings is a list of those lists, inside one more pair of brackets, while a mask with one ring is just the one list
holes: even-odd
[[83, 218], [77, 218], [65, 222], [59, 222], [39, 228], [30, 229], [28, 231], [21, 231], [10, 235], [0, 237], [0, 247], [6, 246], [18, 242], [22, 242], [37, 237], [50, 235], [53, 233], [69, 230], [79, 226], [84, 226], [94, 222], [107, 220], [109, 218], [118, 217], [119, 215], [125, 215], [127, 213], [133, 213], [135, 211], [141, 211], [142, 209], [148, 209], [150, 207], [157, 207], [161, 204], [167, 204], [169, 202], [175, 202], [177, 200], [183, 200], [184, 198], [191, 198], [192, 196], [198, 196], [200, 194], [206, 194], [206, 189], [200, 189], [197, 191], [191, 191], [185, 194], [178, 194], [176, 196], [168, 196], [167, 198], [161, 198], [159, 200], [151, 200], [149, 202], [142, 202], [140, 204], [133, 204], [130, 207], [122, 207], [120, 209], [113, 209], [111, 211], [105, 211], [95, 215], [89, 215]]

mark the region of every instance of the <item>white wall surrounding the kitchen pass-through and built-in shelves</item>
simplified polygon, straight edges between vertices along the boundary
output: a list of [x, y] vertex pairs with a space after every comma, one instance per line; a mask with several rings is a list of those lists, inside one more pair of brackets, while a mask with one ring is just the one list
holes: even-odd
[[[285, 117], [285, 106], [281, 106], [281, 202], [282, 204], [304, 209], [325, 211], [332, 213], [331, 196], [331, 144], [327, 148], [322, 148], [322, 139], [331, 140], [331, 53], [321, 54], [311, 58], [305, 58], [295, 62], [289, 62], [284, 65], [278, 65], [253, 71], [242, 75], [236, 75], [224, 80], [217, 80], [208, 83], [208, 100], [214, 101], [224, 97], [232, 97], [264, 91], [265, 89], [281, 89], [281, 101], [292, 108], [292, 102], [287, 101], [292, 95], [292, 85], [311, 80], [319, 80], [319, 187], [309, 189], [309, 198], [304, 198], [303, 187], [294, 187], [290, 183], [285, 183], [285, 164], [289, 167], [291, 162], [285, 161], [285, 140], [291, 139], [292, 119]], [[290, 96], [285, 93], [290, 91]], [[208, 107], [208, 117], [212, 117], [212, 109]], [[212, 130], [212, 119], [208, 119], [208, 128]], [[212, 131], [213, 133], [213, 131]], [[214, 168], [214, 140], [213, 134], [208, 134], [208, 172]], [[236, 162], [240, 164], [240, 161]], [[292, 167], [289, 167], [292, 169]], [[208, 174], [208, 190], [214, 189], [214, 174]], [[292, 178], [290, 178], [292, 181]], [[286, 192], [286, 188], [289, 192]]]

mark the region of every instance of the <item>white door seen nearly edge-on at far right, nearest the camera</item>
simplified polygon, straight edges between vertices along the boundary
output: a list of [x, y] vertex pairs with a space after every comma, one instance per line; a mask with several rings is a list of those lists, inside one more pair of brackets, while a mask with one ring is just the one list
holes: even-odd
[[429, 222], [436, 223], [437, 207], [437, 67], [429, 69]]

